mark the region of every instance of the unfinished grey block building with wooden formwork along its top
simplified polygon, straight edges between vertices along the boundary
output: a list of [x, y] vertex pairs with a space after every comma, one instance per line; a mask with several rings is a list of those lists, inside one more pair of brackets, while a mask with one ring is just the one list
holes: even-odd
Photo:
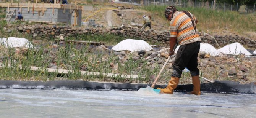
[[92, 6], [55, 3], [0, 3], [0, 7], [6, 8], [7, 22], [15, 21], [18, 11], [25, 21], [66, 23], [73, 26], [81, 26], [82, 10], [92, 10]]

